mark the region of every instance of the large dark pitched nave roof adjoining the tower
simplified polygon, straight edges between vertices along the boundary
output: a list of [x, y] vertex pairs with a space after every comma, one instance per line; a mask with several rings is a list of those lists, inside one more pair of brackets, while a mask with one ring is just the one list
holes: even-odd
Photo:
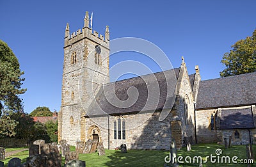
[[[179, 71], [180, 68], [174, 68], [173, 70], [157, 72], [154, 74], [148, 74], [146, 76], [133, 77], [131, 79], [105, 84], [102, 86], [99, 93], [97, 93], [97, 96], [95, 97], [96, 100], [88, 107], [88, 111], [86, 113], [87, 115], [92, 116], [102, 115], [104, 113], [121, 114], [148, 111], [152, 109], [170, 108], [172, 106], [164, 106], [166, 104], [170, 105], [172, 103], [171, 101], [173, 100], [172, 97], [170, 97], [171, 95], [167, 95], [167, 88], [171, 89], [172, 92], [174, 91], [177, 78], [179, 77]], [[174, 80], [173, 74], [176, 76], [176, 79]], [[168, 79], [168, 83], [170, 83], [168, 87], [166, 84], [166, 79]], [[113, 102], [116, 102], [115, 96], [120, 100], [129, 101], [127, 90], [131, 88], [130, 92], [132, 92], [132, 87], [138, 90], [138, 99], [131, 102], [131, 106], [125, 106], [124, 104], [113, 104]], [[115, 90], [115, 93], [113, 90]], [[159, 96], [157, 95], [158, 93], [160, 93]], [[135, 95], [131, 93], [131, 97], [134, 96]], [[168, 102], [166, 102], [166, 99]], [[110, 103], [109, 100], [113, 102]]]

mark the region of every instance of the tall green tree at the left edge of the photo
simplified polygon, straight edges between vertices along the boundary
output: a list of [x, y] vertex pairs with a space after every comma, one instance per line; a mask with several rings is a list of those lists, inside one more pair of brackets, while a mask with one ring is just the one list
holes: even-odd
[[22, 100], [19, 95], [25, 93], [21, 88], [24, 78], [20, 77], [19, 61], [12, 49], [0, 40], [0, 116], [3, 110], [22, 110]]

